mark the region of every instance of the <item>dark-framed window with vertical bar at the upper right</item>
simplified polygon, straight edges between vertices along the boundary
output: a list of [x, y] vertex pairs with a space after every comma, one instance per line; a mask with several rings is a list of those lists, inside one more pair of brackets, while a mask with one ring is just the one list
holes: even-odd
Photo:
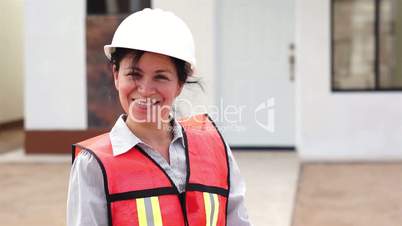
[[402, 90], [401, 62], [401, 1], [332, 0], [333, 91]]

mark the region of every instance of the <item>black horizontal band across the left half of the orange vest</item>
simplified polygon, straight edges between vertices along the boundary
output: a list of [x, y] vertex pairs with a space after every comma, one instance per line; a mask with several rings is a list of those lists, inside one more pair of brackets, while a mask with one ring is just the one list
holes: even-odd
[[177, 195], [173, 187], [153, 188], [139, 191], [129, 191], [110, 195], [110, 202], [123, 201], [129, 199], [138, 199], [161, 195]]

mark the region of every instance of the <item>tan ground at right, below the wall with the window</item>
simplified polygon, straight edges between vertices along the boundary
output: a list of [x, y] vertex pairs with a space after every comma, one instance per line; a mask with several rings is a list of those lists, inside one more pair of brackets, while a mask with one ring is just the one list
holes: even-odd
[[304, 164], [293, 226], [402, 225], [402, 164]]

